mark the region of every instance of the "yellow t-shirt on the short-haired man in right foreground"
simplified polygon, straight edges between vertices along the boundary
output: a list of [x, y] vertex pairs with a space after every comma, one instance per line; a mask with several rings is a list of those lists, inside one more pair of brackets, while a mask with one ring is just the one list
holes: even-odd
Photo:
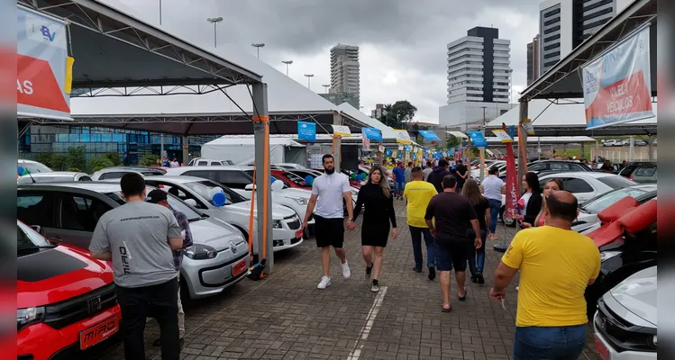
[[574, 230], [543, 226], [518, 231], [502, 261], [520, 269], [517, 327], [587, 323], [584, 291], [600, 272], [600, 252]]

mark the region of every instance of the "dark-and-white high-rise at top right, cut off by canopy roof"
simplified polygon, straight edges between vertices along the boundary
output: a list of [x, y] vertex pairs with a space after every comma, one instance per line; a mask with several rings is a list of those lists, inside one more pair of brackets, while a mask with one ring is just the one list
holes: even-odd
[[540, 74], [634, 0], [546, 0], [539, 4]]

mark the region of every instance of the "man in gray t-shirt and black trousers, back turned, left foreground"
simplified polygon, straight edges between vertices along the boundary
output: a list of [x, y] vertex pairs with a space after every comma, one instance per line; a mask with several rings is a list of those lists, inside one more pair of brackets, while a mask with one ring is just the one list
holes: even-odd
[[178, 272], [172, 251], [184, 246], [180, 226], [169, 209], [145, 202], [140, 174], [123, 175], [120, 185], [126, 203], [101, 216], [89, 251], [113, 263], [124, 358], [145, 359], [143, 331], [151, 316], [160, 324], [161, 358], [178, 360]]

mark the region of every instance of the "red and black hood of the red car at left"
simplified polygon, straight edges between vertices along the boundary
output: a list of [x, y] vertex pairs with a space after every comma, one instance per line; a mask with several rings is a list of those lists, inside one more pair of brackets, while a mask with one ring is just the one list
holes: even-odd
[[17, 309], [62, 302], [113, 283], [113, 268], [61, 244], [17, 258]]

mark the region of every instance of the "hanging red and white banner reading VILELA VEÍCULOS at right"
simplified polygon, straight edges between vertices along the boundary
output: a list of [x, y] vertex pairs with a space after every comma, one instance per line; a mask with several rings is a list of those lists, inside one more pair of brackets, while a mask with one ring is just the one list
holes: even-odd
[[649, 27], [581, 67], [586, 129], [654, 116]]

